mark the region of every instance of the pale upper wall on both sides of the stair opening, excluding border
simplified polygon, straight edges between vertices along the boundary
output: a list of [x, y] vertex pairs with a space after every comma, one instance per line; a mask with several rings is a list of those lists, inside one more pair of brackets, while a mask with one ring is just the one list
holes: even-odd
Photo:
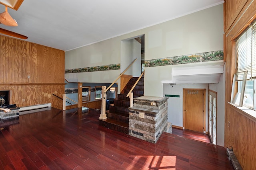
[[[65, 69], [121, 63], [120, 61], [123, 60], [120, 56], [121, 41], [143, 34], [145, 60], [222, 50], [223, 5], [66, 51]], [[68, 73], [65, 74], [65, 78], [78, 82], [112, 82], [119, 74], [120, 70], [111, 71], [111, 76], [109, 76], [110, 71]], [[160, 82], [172, 79], [171, 66], [145, 68], [144, 79], [148, 82], [144, 85], [144, 95], [160, 97], [162, 96]]]

